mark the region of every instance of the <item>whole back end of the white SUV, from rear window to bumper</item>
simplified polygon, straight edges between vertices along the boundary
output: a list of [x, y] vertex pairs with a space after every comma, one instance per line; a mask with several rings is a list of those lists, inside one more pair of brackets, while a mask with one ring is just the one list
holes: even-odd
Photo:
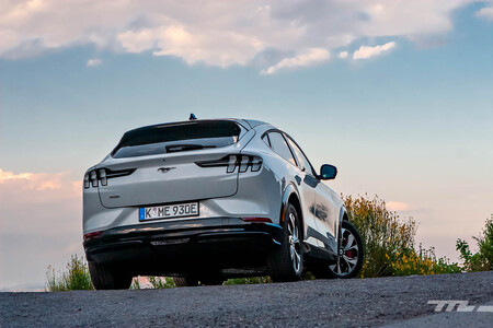
[[[126, 132], [84, 176], [88, 260], [128, 274], [183, 273], [206, 258], [213, 267], [239, 267], [275, 246], [279, 227], [265, 223], [278, 213], [270, 195], [279, 190], [262, 157], [243, 151], [254, 136], [241, 120]], [[259, 183], [265, 188], [254, 197], [241, 188]]]

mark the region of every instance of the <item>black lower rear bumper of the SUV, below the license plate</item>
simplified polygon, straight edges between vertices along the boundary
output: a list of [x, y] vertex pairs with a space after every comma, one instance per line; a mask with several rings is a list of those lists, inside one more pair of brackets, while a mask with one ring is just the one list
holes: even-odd
[[282, 232], [277, 224], [234, 218], [195, 219], [115, 227], [83, 246], [89, 261], [134, 274], [190, 274], [263, 267]]

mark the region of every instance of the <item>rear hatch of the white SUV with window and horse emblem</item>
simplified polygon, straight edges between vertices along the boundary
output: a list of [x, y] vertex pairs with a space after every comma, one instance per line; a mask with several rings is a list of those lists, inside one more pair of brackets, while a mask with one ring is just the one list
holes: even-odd
[[228, 161], [245, 128], [232, 120], [197, 120], [126, 132], [98, 165], [101, 202], [107, 208], [184, 202], [237, 192], [238, 171]]

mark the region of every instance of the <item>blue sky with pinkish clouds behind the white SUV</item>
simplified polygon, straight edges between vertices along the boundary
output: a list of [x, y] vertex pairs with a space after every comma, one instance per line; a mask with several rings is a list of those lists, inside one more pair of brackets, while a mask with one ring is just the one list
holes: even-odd
[[458, 260], [493, 213], [493, 1], [0, 0], [0, 290], [83, 254], [126, 130], [190, 113], [286, 130]]

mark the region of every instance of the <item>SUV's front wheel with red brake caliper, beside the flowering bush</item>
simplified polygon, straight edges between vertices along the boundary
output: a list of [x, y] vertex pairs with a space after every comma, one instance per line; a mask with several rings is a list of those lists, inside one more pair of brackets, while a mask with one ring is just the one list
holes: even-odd
[[362, 270], [365, 254], [362, 237], [348, 221], [342, 222], [337, 245], [337, 261], [316, 268], [313, 274], [317, 278], [351, 279]]

